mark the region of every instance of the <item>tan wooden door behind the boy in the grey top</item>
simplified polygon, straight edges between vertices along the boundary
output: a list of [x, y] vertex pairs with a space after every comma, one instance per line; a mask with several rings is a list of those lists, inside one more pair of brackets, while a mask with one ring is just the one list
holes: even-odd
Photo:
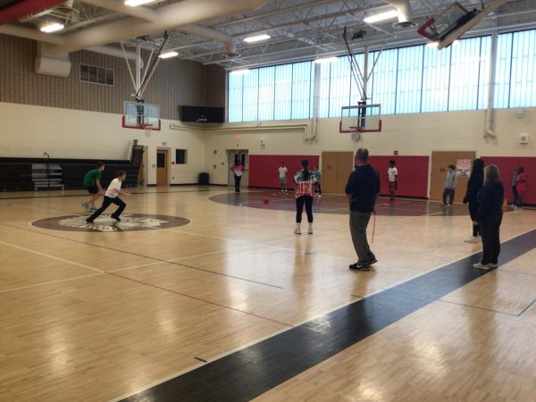
[[[431, 180], [430, 180], [430, 199], [433, 201], [442, 201], [443, 188], [445, 184], [445, 175], [448, 171], [448, 165], [458, 165], [458, 161], [470, 160], [473, 164], [473, 160], [476, 157], [474, 151], [446, 151], [431, 153]], [[458, 176], [456, 184], [456, 193], [454, 197], [455, 202], [461, 202], [465, 196], [465, 189], [467, 188], [467, 176]]]

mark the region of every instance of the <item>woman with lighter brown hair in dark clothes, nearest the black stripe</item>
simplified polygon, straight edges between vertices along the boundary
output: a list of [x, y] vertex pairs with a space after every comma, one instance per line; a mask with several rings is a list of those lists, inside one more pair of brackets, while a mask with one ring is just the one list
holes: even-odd
[[490, 270], [498, 267], [500, 254], [499, 228], [502, 222], [502, 204], [505, 188], [500, 181], [498, 167], [494, 164], [484, 169], [484, 186], [478, 192], [478, 212], [473, 225], [482, 233], [482, 260], [474, 268]]

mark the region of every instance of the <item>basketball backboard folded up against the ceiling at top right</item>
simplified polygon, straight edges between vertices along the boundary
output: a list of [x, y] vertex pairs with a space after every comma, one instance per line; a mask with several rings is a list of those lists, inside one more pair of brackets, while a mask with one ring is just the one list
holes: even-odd
[[489, 13], [495, 11], [507, 0], [494, 0], [482, 8], [467, 10], [462, 4], [454, 2], [435, 17], [427, 17], [417, 29], [419, 35], [438, 43], [438, 50], [450, 46], [469, 29], [472, 29]]

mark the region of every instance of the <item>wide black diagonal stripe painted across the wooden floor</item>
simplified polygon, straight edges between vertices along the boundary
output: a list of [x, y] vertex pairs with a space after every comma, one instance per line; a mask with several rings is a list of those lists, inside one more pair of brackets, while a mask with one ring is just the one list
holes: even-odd
[[[502, 244], [500, 264], [536, 247], [536, 230]], [[124, 401], [247, 401], [487, 272], [476, 253], [139, 392]], [[361, 272], [356, 272], [359, 275]]]

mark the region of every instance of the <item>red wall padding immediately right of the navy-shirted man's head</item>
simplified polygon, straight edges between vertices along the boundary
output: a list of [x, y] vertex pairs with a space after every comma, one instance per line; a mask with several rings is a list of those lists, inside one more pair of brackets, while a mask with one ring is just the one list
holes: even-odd
[[429, 156], [415, 155], [374, 155], [370, 163], [380, 172], [381, 194], [389, 194], [387, 183], [387, 169], [389, 160], [397, 162], [398, 169], [398, 196], [428, 197], [428, 164]]

